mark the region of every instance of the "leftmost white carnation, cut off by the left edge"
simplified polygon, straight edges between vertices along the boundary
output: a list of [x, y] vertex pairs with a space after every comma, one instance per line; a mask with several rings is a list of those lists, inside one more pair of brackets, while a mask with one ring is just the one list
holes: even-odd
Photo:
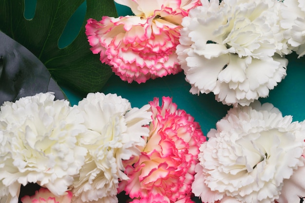
[[37, 183], [63, 195], [84, 164], [76, 146], [83, 117], [66, 100], [39, 93], [0, 108], [0, 197], [18, 203], [20, 186]]

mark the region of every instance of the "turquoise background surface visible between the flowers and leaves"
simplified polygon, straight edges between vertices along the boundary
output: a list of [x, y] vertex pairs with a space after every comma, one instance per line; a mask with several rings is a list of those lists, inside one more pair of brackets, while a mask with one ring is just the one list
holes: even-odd
[[[129, 8], [118, 4], [116, 6], [119, 16], [132, 15]], [[75, 32], [75, 26], [77, 27], [78, 21], [82, 22], [85, 10], [86, 7], [83, 4], [76, 11], [76, 15], [71, 18], [71, 24], [67, 25], [67, 32]], [[67, 36], [65, 41], [71, 41]], [[260, 99], [260, 101], [272, 103], [282, 111], [283, 115], [292, 115], [294, 121], [303, 121], [305, 119], [303, 102], [305, 101], [305, 57], [297, 59], [297, 55], [293, 53], [287, 58], [289, 63], [286, 78], [270, 91], [268, 98]], [[64, 86], [62, 88], [72, 105], [82, 99], [77, 92]], [[179, 109], [184, 109], [195, 118], [195, 121], [199, 122], [206, 135], [211, 128], [215, 128], [216, 122], [226, 115], [230, 107], [217, 102], [212, 93], [193, 95], [189, 92], [190, 88], [191, 85], [185, 81], [183, 73], [149, 80], [142, 84], [135, 82], [129, 84], [113, 75], [100, 92], [121, 95], [131, 102], [132, 107], [139, 108], [151, 101], [153, 97], [159, 97], [161, 100], [162, 96], [170, 96]]]

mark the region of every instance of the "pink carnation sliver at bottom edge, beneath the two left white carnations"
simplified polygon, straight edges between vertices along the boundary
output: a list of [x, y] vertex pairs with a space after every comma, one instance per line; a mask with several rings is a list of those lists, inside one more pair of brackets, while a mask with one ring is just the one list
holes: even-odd
[[55, 196], [47, 188], [41, 187], [33, 196], [24, 196], [21, 198], [22, 203], [71, 203], [72, 192], [67, 191], [62, 196]]

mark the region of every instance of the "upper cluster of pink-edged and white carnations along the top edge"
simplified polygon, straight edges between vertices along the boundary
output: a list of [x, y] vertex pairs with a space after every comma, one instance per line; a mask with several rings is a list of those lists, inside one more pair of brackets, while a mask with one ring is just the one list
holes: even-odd
[[131, 83], [181, 70], [193, 94], [226, 105], [267, 97], [285, 55], [305, 54], [302, 0], [115, 0], [135, 16], [89, 19], [91, 50]]

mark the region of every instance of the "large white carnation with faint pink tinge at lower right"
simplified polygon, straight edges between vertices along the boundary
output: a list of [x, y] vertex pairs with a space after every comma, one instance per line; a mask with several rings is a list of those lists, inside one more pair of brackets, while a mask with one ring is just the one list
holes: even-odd
[[[200, 147], [192, 191], [204, 203], [271, 203], [304, 165], [305, 126], [271, 104], [232, 108]], [[227, 201], [233, 202], [233, 201]]]

